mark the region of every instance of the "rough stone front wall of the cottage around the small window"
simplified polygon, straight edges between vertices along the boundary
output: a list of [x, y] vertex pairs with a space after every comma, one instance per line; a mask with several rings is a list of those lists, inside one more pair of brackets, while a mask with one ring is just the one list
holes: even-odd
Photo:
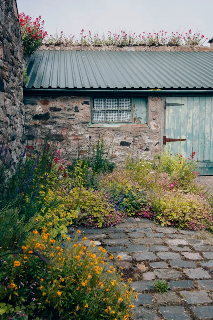
[[112, 140], [115, 162], [124, 160], [133, 147], [153, 158], [161, 148], [161, 98], [148, 98], [147, 124], [90, 124], [90, 98], [77, 96], [24, 98], [26, 138], [43, 139], [50, 132], [58, 141], [65, 159], [85, 155], [98, 137], [103, 136], [106, 147]]

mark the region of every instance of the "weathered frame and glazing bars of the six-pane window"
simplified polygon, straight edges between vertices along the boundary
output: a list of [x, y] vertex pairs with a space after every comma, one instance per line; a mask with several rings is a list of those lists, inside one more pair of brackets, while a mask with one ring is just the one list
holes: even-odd
[[[104, 104], [104, 109], [95, 109], [95, 111], [105, 111], [104, 113], [104, 121], [94, 121], [93, 120], [93, 106], [94, 106], [94, 100], [95, 99], [104, 99], [105, 100], [105, 104]], [[107, 110], [112, 110], [112, 111], [115, 111], [115, 110], [118, 110], [118, 118], [119, 118], [119, 110], [130, 110], [130, 109], [119, 109], [119, 99], [130, 99], [130, 106], [131, 106], [131, 116], [130, 116], [130, 120], [129, 121], [107, 121], [106, 120], [106, 111]], [[118, 109], [106, 109], [106, 99], [117, 99], [118, 100]], [[93, 97], [92, 98], [92, 106], [91, 106], [91, 124], [99, 124], [99, 123], [105, 123], [105, 124], [115, 124], [115, 123], [129, 123], [129, 124], [132, 124], [133, 123], [133, 99], [131, 97]]]

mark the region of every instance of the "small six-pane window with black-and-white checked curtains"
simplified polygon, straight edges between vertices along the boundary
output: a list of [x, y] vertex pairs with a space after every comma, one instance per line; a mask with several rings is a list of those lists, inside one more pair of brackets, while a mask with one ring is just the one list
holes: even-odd
[[92, 122], [133, 122], [132, 99], [95, 98], [93, 99]]

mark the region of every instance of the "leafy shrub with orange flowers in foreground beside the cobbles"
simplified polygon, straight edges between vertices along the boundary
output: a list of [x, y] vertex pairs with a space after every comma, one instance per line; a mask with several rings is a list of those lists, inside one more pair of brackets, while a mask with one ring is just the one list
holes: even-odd
[[20, 251], [1, 257], [0, 297], [11, 306], [8, 313], [1, 306], [5, 319], [19, 310], [23, 316], [49, 319], [129, 319], [133, 291], [121, 285], [116, 266], [105, 271], [106, 250], [99, 247], [94, 253], [95, 245], [85, 246], [87, 238], [77, 244], [77, 236], [70, 243], [65, 235], [62, 248], [50, 234], [51, 229], [34, 230]]

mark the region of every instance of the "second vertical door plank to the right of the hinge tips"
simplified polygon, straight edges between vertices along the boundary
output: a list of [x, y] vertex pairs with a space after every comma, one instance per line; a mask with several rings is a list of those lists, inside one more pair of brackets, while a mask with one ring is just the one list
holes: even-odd
[[[195, 161], [198, 161], [199, 108], [200, 108], [200, 97], [194, 97], [192, 151], [196, 152], [194, 157]], [[188, 154], [188, 156], [190, 154]]]

